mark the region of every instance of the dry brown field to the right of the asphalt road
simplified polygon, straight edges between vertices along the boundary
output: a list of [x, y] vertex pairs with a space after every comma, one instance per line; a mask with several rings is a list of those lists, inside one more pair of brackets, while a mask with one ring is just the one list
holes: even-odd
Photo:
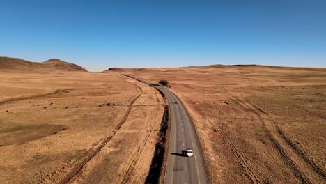
[[326, 68], [118, 71], [169, 80], [193, 118], [210, 183], [326, 183]]

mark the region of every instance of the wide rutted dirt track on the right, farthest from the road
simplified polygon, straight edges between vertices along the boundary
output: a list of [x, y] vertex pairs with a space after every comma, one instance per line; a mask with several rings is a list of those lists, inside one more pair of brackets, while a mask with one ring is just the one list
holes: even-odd
[[303, 151], [291, 144], [290, 139], [275, 125], [272, 116], [263, 109], [252, 105], [247, 100], [233, 98], [233, 101], [259, 118], [261, 123], [263, 123], [267, 137], [278, 151], [284, 164], [293, 171], [293, 174], [301, 183], [323, 183], [325, 181], [323, 170], [312, 162]]

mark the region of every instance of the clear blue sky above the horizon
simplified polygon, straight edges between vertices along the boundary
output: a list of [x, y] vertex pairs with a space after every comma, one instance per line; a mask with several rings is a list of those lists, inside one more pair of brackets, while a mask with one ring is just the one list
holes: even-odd
[[88, 70], [326, 67], [326, 1], [0, 0], [0, 56]]

